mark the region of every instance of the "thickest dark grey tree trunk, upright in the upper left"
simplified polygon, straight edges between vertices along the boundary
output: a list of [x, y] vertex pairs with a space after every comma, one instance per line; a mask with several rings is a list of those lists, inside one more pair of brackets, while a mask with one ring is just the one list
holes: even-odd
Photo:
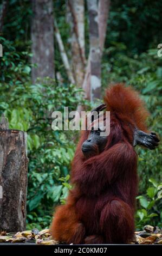
[[54, 78], [54, 17], [52, 0], [32, 0], [33, 19], [31, 25], [33, 83], [37, 77]]

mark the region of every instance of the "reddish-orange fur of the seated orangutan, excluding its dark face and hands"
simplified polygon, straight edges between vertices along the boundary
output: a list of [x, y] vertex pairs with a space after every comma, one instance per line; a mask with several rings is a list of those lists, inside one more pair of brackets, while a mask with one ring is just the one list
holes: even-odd
[[71, 172], [75, 185], [66, 205], [54, 214], [51, 233], [66, 243], [127, 243], [134, 233], [137, 195], [137, 154], [134, 127], [147, 130], [147, 111], [130, 87], [116, 84], [107, 90], [107, 110], [111, 111], [111, 131], [104, 151], [85, 159], [83, 131], [77, 145]]

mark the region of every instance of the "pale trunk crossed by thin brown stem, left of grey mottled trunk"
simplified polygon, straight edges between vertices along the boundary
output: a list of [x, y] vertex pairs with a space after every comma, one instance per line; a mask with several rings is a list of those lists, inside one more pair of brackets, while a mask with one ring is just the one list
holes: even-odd
[[85, 76], [85, 7], [83, 0], [69, 0], [72, 15], [72, 65], [77, 87], [82, 87]]

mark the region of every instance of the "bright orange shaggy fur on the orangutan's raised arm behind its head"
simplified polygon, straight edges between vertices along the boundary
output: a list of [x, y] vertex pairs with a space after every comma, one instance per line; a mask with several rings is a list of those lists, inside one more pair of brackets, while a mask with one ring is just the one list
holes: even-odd
[[139, 130], [147, 131], [146, 119], [149, 114], [144, 101], [132, 87], [115, 84], [106, 90], [104, 100], [107, 111], [114, 113], [122, 124], [132, 124]]

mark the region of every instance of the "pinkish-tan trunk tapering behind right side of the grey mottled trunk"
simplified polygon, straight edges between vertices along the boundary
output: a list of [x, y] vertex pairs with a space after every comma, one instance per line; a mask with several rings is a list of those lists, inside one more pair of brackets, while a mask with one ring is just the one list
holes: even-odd
[[99, 37], [100, 37], [100, 50], [103, 52], [103, 47], [106, 38], [107, 20], [109, 15], [110, 0], [99, 1]]

